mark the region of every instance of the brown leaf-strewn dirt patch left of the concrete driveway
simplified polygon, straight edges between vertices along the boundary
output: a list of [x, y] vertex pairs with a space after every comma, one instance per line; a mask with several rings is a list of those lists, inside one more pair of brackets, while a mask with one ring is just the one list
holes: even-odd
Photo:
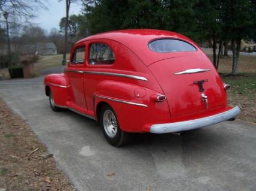
[[0, 98], [0, 190], [75, 190], [52, 155]]

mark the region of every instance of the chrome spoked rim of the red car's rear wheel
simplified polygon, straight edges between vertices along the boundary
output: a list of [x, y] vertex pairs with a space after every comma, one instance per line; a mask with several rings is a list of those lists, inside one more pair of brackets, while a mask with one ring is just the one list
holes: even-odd
[[111, 110], [105, 110], [103, 113], [103, 126], [106, 134], [113, 138], [117, 135], [117, 119], [115, 118], [115, 114]]

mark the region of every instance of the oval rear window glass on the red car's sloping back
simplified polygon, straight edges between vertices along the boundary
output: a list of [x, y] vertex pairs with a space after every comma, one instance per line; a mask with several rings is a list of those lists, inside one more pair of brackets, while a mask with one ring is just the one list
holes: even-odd
[[189, 43], [175, 39], [159, 39], [148, 44], [148, 47], [157, 53], [169, 53], [174, 51], [197, 51]]

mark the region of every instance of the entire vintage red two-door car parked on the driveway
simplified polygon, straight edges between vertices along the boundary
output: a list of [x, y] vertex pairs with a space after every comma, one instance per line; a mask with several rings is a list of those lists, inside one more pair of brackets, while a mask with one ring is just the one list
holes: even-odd
[[106, 140], [165, 134], [233, 120], [226, 90], [206, 54], [169, 31], [132, 29], [84, 38], [64, 74], [44, 78], [53, 111], [69, 108], [100, 123]]

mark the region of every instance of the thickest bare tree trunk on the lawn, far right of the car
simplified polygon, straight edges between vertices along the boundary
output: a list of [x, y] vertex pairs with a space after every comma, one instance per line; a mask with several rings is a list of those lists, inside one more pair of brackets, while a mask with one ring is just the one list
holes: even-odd
[[232, 39], [231, 41], [232, 53], [233, 53], [233, 64], [232, 64], [232, 75], [238, 74], [238, 59], [240, 55], [241, 39]]

